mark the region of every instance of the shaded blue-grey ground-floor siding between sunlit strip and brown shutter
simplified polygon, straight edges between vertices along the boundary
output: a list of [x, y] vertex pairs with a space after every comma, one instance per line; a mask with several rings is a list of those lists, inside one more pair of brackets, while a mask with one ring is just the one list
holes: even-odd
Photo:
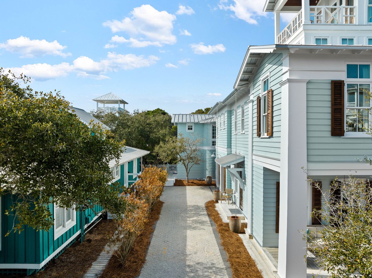
[[276, 182], [279, 172], [263, 168], [263, 247], [278, 247], [279, 234], [275, 232]]

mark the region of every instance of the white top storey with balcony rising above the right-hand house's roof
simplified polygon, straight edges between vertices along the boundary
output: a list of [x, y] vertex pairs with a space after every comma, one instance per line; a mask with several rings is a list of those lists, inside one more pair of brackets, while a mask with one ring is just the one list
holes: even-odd
[[[266, 0], [276, 44], [372, 45], [372, 0]], [[293, 19], [280, 29], [280, 15]]]

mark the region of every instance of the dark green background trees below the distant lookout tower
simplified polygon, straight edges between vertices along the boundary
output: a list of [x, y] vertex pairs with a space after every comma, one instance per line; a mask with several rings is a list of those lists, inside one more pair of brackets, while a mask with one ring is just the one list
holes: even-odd
[[150, 151], [144, 157], [145, 162], [156, 163], [157, 157], [152, 153], [156, 145], [169, 136], [177, 135], [177, 129], [171, 125], [171, 116], [163, 109], [151, 111], [134, 110], [104, 114], [92, 111], [93, 115], [105, 125], [112, 128], [116, 139], [125, 140], [126, 145]]

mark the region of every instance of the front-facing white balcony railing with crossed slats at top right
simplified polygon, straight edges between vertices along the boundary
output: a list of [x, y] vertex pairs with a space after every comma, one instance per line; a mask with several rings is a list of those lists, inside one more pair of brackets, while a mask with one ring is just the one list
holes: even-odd
[[355, 24], [355, 6], [310, 6], [311, 24]]

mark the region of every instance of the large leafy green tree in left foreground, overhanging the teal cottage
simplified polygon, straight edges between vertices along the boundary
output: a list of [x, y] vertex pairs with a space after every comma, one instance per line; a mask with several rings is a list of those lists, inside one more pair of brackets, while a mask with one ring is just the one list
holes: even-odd
[[117, 190], [109, 190], [109, 161], [124, 142], [109, 130], [84, 125], [59, 92], [37, 92], [29, 78], [0, 71], [0, 194], [12, 194], [6, 214], [14, 231], [54, 224], [49, 205], [122, 211]]

